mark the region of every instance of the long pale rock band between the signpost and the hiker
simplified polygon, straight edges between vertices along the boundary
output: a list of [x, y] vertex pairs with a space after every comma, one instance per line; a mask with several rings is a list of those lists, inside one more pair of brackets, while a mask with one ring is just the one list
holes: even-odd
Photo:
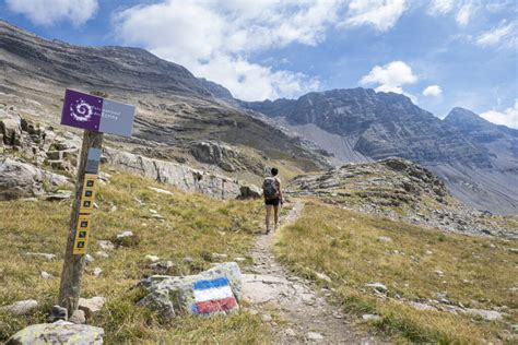
[[104, 155], [106, 162], [113, 166], [175, 186], [184, 191], [198, 192], [217, 199], [236, 199], [242, 195], [242, 185], [238, 181], [186, 165], [152, 159], [113, 148], [105, 148]]

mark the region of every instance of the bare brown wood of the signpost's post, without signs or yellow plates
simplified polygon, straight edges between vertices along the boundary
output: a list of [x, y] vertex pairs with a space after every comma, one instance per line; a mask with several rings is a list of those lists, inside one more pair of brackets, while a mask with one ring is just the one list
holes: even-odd
[[81, 292], [81, 278], [84, 270], [84, 255], [73, 254], [78, 219], [80, 215], [81, 195], [83, 193], [84, 175], [89, 150], [91, 147], [102, 148], [103, 133], [85, 130], [83, 134], [83, 145], [81, 147], [78, 167], [78, 179], [75, 182], [75, 198], [72, 204], [70, 217], [67, 249], [64, 251], [63, 270], [61, 272], [61, 283], [59, 287], [59, 306], [67, 308], [69, 317], [78, 310], [79, 296]]

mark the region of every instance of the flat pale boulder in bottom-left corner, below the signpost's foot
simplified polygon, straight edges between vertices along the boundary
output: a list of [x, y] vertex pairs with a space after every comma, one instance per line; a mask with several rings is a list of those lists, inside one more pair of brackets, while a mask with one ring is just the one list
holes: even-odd
[[103, 344], [104, 330], [67, 321], [33, 324], [9, 338], [9, 345]]

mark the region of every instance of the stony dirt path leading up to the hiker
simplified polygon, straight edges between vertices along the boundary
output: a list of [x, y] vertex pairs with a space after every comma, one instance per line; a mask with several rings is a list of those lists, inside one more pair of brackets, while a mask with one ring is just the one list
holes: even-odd
[[[296, 221], [304, 204], [296, 201], [282, 219], [286, 225]], [[330, 306], [308, 281], [284, 269], [271, 252], [275, 233], [259, 236], [252, 250], [252, 272], [244, 274], [245, 299], [251, 310], [271, 322], [275, 343], [375, 344], [374, 338], [360, 335], [351, 320], [338, 308]], [[271, 314], [282, 320], [271, 319]]]

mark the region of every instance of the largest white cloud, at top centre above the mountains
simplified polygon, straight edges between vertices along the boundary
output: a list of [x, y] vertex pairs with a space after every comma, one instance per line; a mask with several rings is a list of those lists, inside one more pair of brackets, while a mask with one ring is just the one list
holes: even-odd
[[249, 56], [293, 43], [318, 45], [327, 28], [339, 22], [341, 4], [341, 0], [164, 0], [129, 8], [114, 23], [126, 44], [180, 63], [238, 98], [293, 97], [316, 90], [318, 81], [252, 63]]

